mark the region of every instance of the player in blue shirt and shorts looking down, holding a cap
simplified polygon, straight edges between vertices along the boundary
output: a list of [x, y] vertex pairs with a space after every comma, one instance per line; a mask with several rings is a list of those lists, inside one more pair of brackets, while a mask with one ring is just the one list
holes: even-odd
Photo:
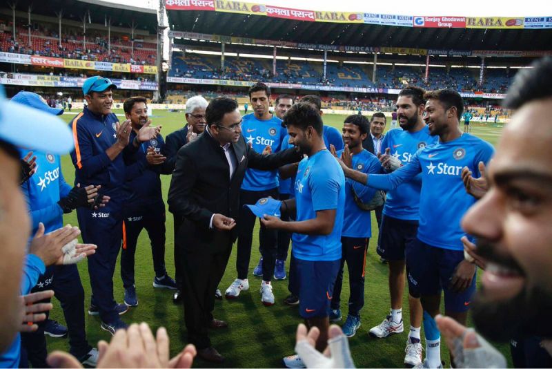
[[[292, 253], [299, 281], [299, 314], [307, 326], [317, 327], [316, 348], [328, 344], [330, 302], [342, 256], [341, 235], [345, 208], [345, 178], [322, 139], [322, 118], [312, 104], [299, 102], [286, 113], [290, 143], [304, 153], [295, 179], [295, 198], [282, 202], [282, 214], [294, 222], [264, 216], [269, 229], [293, 233]], [[303, 367], [301, 358], [284, 359], [288, 367]]]

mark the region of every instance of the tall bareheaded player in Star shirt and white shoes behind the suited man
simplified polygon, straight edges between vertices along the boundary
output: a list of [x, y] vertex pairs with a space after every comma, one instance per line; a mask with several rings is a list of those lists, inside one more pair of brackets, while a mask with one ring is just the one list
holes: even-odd
[[[268, 111], [270, 105], [270, 88], [261, 82], [249, 89], [249, 100], [253, 106], [253, 113], [245, 115], [242, 121], [242, 132], [246, 143], [257, 153], [262, 153], [266, 146], [270, 146], [271, 153], [277, 153], [282, 148], [282, 141], [286, 130], [282, 127], [282, 120]], [[253, 227], [255, 215], [244, 205], [254, 205], [260, 198], [268, 196], [278, 198], [277, 171], [261, 171], [248, 168], [240, 191], [240, 214], [237, 239], [236, 269], [237, 278], [226, 289], [227, 299], [236, 299], [239, 293], [249, 289], [247, 274], [251, 257], [251, 243], [253, 241]], [[262, 282], [261, 301], [264, 305], [274, 304], [272, 281], [277, 254], [277, 231], [266, 229], [261, 225], [259, 231], [259, 249], [262, 252]]]

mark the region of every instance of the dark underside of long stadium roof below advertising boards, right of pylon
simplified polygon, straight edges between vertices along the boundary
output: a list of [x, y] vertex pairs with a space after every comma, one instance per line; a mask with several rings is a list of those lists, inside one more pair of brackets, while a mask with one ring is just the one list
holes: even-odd
[[550, 50], [552, 29], [409, 28], [167, 10], [171, 30], [306, 44], [455, 50]]

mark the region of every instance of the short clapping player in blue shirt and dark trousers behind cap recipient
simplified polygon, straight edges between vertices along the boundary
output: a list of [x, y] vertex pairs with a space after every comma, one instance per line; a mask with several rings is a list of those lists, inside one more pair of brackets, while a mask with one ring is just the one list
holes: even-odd
[[[343, 123], [343, 142], [345, 149], [332, 153], [338, 158], [351, 158], [351, 168], [363, 173], [382, 173], [382, 164], [373, 153], [362, 147], [362, 142], [370, 134], [370, 122], [363, 115], [349, 115]], [[351, 157], [352, 155], [352, 157]], [[341, 236], [342, 258], [339, 272], [333, 288], [330, 319], [341, 320], [339, 303], [343, 285], [343, 269], [345, 263], [349, 272], [349, 287], [351, 293], [348, 300], [348, 315], [342, 327], [347, 337], [353, 337], [360, 328], [360, 310], [364, 306], [364, 271], [366, 268], [366, 252], [372, 236], [371, 212], [357, 205], [355, 197], [363, 203], [372, 200], [375, 189], [353, 180], [345, 182], [345, 212]]]

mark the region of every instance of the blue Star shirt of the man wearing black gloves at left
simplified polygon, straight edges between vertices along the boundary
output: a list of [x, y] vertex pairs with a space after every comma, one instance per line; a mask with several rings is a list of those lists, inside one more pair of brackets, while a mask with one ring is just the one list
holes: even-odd
[[[21, 150], [21, 158], [28, 152]], [[40, 222], [46, 233], [63, 227], [63, 210], [57, 202], [72, 188], [63, 178], [59, 155], [34, 151], [34, 156], [37, 158], [37, 172], [21, 185], [32, 219], [31, 236], [36, 233]]]

